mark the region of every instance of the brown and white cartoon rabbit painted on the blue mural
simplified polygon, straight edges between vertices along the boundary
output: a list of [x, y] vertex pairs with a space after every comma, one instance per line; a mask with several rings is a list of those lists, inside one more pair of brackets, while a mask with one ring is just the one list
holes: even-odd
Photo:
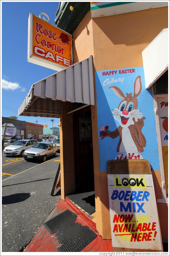
[[134, 96], [132, 93], [126, 93], [124, 96], [123, 92], [116, 86], [111, 86], [114, 93], [121, 99], [123, 99], [118, 108], [113, 110], [114, 119], [117, 120], [120, 126], [113, 132], [109, 132], [108, 126], [105, 127], [107, 130], [104, 131], [101, 128], [100, 137], [117, 138], [120, 136], [120, 140], [117, 146], [117, 152], [143, 152], [143, 147], [146, 146], [146, 139], [142, 133], [142, 127], [144, 126], [143, 114], [137, 109], [138, 100], [137, 96], [141, 92], [142, 84], [141, 77], [138, 76], [134, 82]]

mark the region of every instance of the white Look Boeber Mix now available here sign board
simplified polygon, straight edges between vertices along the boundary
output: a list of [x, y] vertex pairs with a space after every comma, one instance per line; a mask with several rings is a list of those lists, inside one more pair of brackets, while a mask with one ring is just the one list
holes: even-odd
[[162, 250], [152, 174], [108, 174], [112, 246]]

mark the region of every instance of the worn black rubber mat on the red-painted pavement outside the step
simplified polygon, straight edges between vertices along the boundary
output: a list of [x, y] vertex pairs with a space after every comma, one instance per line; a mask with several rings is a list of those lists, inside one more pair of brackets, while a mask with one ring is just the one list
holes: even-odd
[[88, 226], [75, 223], [76, 219], [77, 215], [67, 209], [43, 224], [62, 244], [58, 252], [80, 252], [97, 237]]

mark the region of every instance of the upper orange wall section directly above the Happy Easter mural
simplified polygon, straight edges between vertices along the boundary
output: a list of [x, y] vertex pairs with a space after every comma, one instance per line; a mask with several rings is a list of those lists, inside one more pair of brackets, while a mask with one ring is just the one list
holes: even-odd
[[143, 66], [143, 49], [163, 28], [168, 28], [168, 7], [94, 18], [96, 71]]

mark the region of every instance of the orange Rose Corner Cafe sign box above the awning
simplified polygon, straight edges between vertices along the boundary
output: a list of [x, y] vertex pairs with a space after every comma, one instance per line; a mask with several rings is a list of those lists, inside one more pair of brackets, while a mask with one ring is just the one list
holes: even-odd
[[71, 66], [71, 38], [69, 33], [30, 13], [27, 61], [56, 71]]

